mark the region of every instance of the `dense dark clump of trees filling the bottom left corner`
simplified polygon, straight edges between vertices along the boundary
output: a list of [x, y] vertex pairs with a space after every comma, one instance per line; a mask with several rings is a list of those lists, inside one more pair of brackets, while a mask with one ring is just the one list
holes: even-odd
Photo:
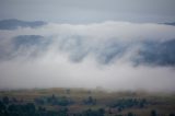
[[68, 108], [59, 111], [47, 111], [43, 106], [35, 106], [35, 103], [21, 103], [4, 96], [0, 100], [0, 116], [68, 116]]

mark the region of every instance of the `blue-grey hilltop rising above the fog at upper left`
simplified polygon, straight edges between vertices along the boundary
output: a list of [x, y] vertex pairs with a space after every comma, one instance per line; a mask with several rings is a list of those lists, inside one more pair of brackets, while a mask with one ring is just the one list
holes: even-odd
[[0, 30], [16, 30], [18, 27], [38, 27], [45, 25], [46, 22], [43, 21], [20, 21], [16, 19], [1, 20], [0, 21]]

